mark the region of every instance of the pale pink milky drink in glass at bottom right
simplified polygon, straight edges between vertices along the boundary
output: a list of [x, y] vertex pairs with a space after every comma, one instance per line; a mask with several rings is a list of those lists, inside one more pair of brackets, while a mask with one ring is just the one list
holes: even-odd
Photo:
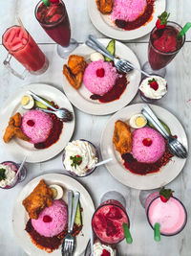
[[159, 222], [160, 234], [163, 236], [177, 235], [187, 221], [186, 209], [180, 200], [171, 196], [167, 202], [163, 202], [159, 192], [152, 193], [146, 199], [145, 211], [152, 228]]

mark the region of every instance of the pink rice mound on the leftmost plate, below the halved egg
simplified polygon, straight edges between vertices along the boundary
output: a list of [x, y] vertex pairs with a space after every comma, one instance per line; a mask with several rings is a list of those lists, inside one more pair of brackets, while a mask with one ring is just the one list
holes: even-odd
[[[28, 125], [28, 121], [32, 120], [34, 125]], [[40, 110], [30, 110], [22, 117], [22, 131], [31, 138], [31, 143], [43, 142], [47, 139], [53, 128], [53, 120], [51, 116]]]

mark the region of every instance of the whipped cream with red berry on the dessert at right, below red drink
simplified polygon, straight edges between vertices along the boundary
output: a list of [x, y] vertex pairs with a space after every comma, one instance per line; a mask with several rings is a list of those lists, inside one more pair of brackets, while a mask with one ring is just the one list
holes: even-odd
[[[153, 79], [155, 79], [159, 84], [159, 88], [157, 90], [154, 90], [149, 84], [149, 81], [151, 81]], [[147, 98], [160, 99], [163, 95], [165, 95], [167, 93], [166, 85], [167, 85], [167, 82], [163, 78], [161, 78], [159, 76], [151, 76], [150, 78], [144, 79], [140, 83], [139, 90]]]

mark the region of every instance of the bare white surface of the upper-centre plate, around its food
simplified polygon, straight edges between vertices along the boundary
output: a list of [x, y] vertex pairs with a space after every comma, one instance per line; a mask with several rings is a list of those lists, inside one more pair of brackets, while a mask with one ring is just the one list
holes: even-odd
[[[98, 39], [104, 46], [107, 46], [110, 39]], [[95, 51], [86, 46], [85, 44], [78, 46], [73, 54], [80, 55], [85, 58], [90, 58], [90, 55]], [[126, 58], [130, 60], [138, 68], [139, 62], [136, 55], [126, 45], [116, 41], [116, 56], [119, 58]], [[92, 95], [84, 84], [78, 90], [75, 90], [72, 85], [66, 80], [64, 76], [63, 89], [71, 103], [83, 112], [92, 115], [107, 115], [116, 112], [118, 109], [128, 105], [136, 96], [138, 92], [138, 84], [140, 81], [140, 73], [136, 70], [127, 75], [128, 81], [125, 91], [120, 98], [111, 103], [99, 103], [90, 99]]]

